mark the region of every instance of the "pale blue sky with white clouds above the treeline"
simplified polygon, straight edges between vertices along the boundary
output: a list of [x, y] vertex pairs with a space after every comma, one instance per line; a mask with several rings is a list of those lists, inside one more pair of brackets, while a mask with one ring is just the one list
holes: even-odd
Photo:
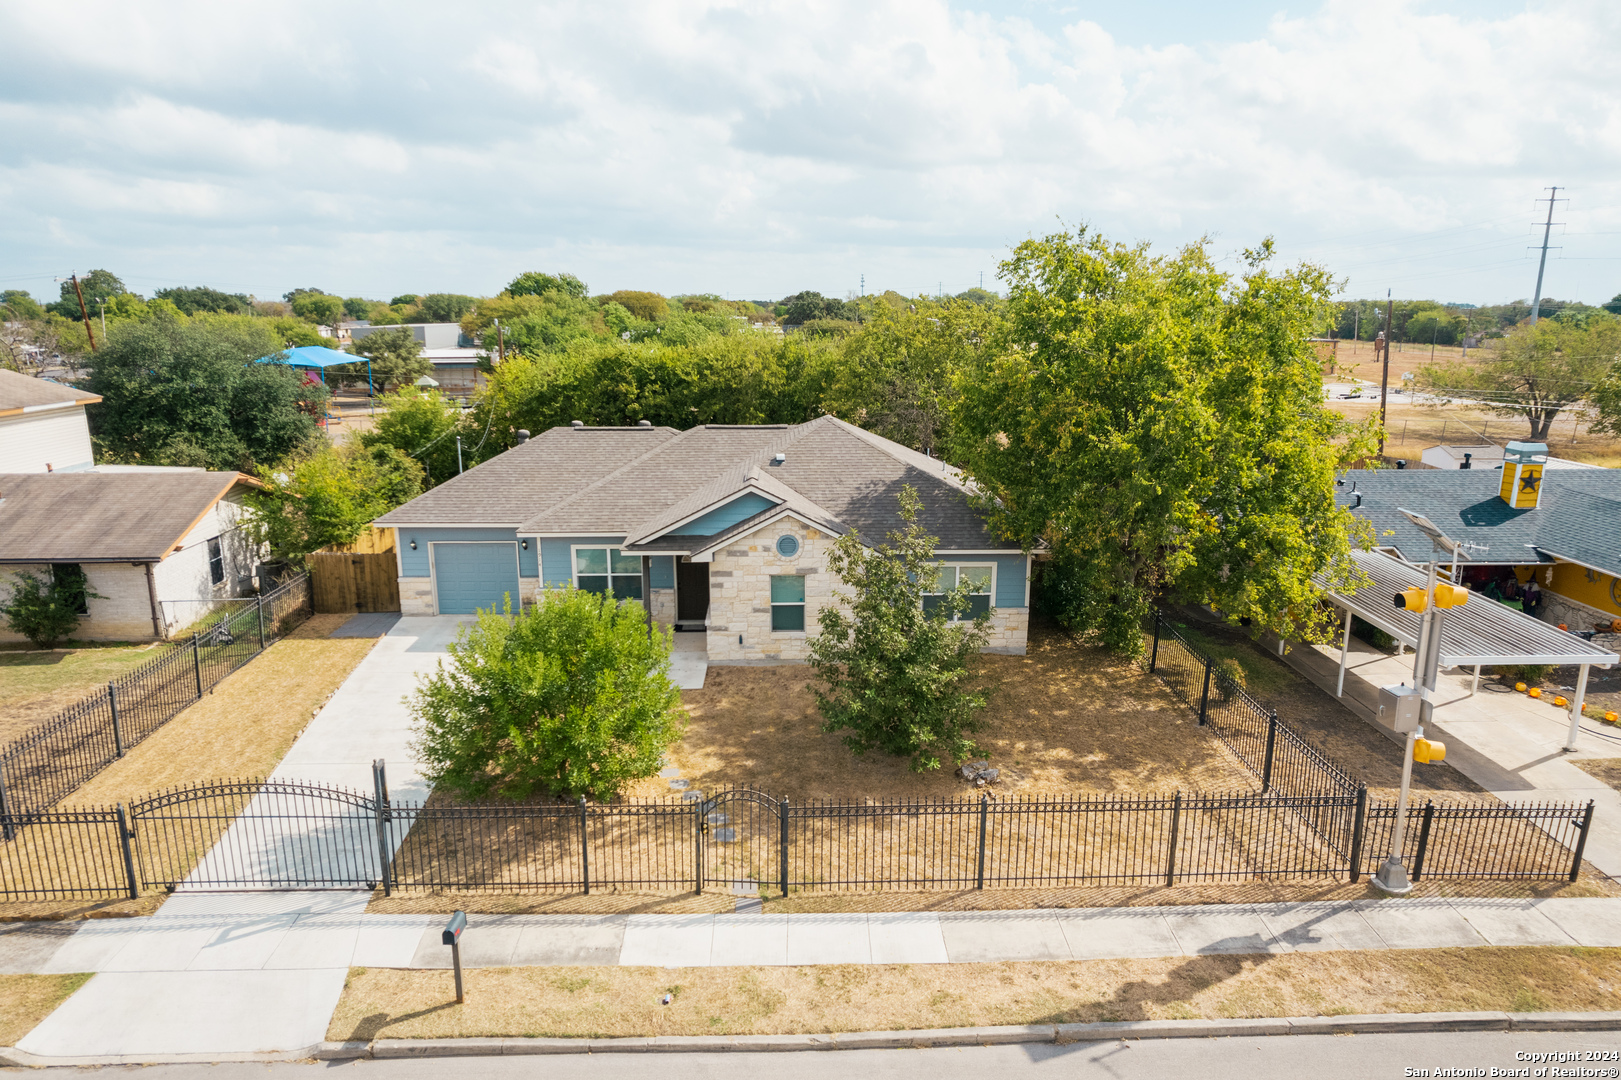
[[[995, 287], [1086, 222], [1621, 292], [1615, 0], [0, 0], [0, 289]], [[1564, 190], [1559, 195], [1566, 195]]]

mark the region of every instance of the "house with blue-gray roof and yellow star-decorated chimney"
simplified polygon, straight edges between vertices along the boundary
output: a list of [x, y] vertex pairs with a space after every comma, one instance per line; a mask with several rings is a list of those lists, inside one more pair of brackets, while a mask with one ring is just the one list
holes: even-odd
[[1464, 579], [1537, 576], [1542, 618], [1572, 631], [1621, 619], [1621, 470], [1556, 469], [1542, 443], [1509, 443], [1508, 469], [1354, 470], [1339, 504], [1367, 519], [1375, 545], [1430, 561], [1430, 540], [1397, 508], [1423, 514], [1454, 540], [1478, 545]]

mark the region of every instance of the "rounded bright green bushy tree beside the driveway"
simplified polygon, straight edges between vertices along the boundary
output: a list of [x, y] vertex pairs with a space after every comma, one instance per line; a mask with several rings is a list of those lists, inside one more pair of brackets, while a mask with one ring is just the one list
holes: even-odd
[[669, 631], [640, 603], [567, 589], [480, 611], [412, 701], [428, 778], [457, 795], [613, 798], [681, 738]]

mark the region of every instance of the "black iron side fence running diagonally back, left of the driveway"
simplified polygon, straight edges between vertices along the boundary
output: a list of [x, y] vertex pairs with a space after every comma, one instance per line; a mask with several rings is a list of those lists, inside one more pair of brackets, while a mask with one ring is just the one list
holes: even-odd
[[0, 835], [57, 806], [310, 615], [300, 574], [107, 683], [0, 751]]

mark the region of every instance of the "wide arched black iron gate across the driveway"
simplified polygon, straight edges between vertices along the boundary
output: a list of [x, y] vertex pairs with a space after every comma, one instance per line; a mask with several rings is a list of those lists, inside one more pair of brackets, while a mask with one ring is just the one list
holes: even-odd
[[220, 782], [130, 808], [148, 889], [373, 889], [378, 801], [324, 783]]

